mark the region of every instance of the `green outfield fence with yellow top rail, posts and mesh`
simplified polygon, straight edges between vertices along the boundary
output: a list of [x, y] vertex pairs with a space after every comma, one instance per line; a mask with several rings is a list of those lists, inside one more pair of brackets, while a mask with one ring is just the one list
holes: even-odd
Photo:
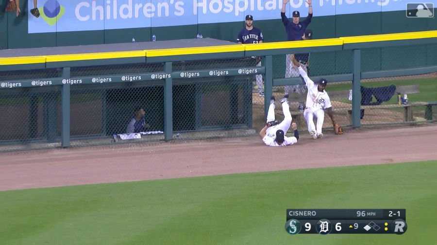
[[[284, 77], [285, 55], [306, 52], [310, 77], [330, 82], [327, 91], [332, 91], [341, 124], [413, 123], [420, 113], [420, 122], [435, 121], [437, 31], [257, 45], [9, 55], [0, 58], [0, 147], [8, 151], [115, 140], [252, 135], [262, 126], [270, 96], [281, 97], [284, 86], [302, 84], [300, 77]], [[256, 66], [253, 57], [263, 57], [262, 65]], [[263, 76], [264, 97], [256, 93], [255, 75]], [[370, 97], [379, 101], [391, 93], [388, 83], [396, 87], [423, 83], [429, 90], [420, 91], [426, 92], [424, 101], [410, 95], [408, 103], [393, 103], [399, 97], [392, 94], [382, 103], [393, 106], [363, 105], [362, 97], [368, 97], [363, 90], [369, 89]], [[302, 96], [290, 100], [292, 114], [298, 118], [297, 102]], [[137, 106], [145, 108], [152, 133], [121, 140], [119, 135], [125, 133]], [[410, 106], [421, 108], [414, 112], [417, 117], [405, 120], [403, 113], [413, 114]]]

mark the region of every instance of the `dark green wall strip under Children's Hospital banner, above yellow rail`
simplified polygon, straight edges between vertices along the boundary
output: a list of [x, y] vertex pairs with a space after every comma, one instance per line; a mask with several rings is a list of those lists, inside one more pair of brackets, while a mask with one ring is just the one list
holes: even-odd
[[[236, 41], [238, 32], [244, 28], [244, 21], [218, 24], [199, 24], [178, 27], [136, 28], [105, 31], [74, 31], [55, 33], [27, 33], [27, 1], [20, 2], [22, 14], [0, 14], [0, 46], [4, 48], [65, 46], [103, 43], [125, 43], [150, 41], [154, 33], [159, 40], [194, 38], [199, 32], [203, 37]], [[6, 2], [3, 1], [3, 9]], [[263, 31], [265, 42], [286, 41], [286, 32], [280, 14], [277, 19], [255, 20], [254, 26]], [[435, 18], [406, 18], [405, 11], [377, 12], [351, 15], [314, 17], [308, 26], [314, 38], [369, 35], [406, 31], [436, 30]], [[57, 40], [59, 39], [59, 40]]]

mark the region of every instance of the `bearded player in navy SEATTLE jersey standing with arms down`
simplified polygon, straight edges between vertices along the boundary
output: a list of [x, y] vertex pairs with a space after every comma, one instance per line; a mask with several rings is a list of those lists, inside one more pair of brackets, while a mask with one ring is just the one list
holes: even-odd
[[[246, 15], [246, 27], [238, 33], [237, 42], [239, 44], [260, 44], [263, 42], [263, 33], [253, 26], [253, 16]], [[261, 66], [261, 57], [252, 57], [258, 62], [256, 66]], [[256, 85], [258, 86], [259, 96], [264, 96], [263, 76], [255, 75]]]

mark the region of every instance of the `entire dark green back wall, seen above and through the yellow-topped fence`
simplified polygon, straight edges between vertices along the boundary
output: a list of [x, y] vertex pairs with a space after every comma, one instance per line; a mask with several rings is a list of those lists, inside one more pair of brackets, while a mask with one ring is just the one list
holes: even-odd
[[[0, 13], [0, 47], [25, 48], [47, 46], [75, 46], [87, 44], [109, 44], [150, 41], [155, 34], [157, 40], [195, 38], [197, 33], [235, 42], [236, 35], [244, 27], [244, 22], [218, 24], [200, 24], [177, 27], [137, 28], [105, 31], [74, 31], [59, 33], [28, 34], [27, 1], [21, 1], [22, 14]], [[2, 1], [1, 8], [5, 8]], [[254, 25], [261, 29], [265, 42], [285, 41], [286, 33], [280, 14], [278, 19], [257, 21]], [[314, 17], [308, 27], [314, 31], [315, 39], [336, 38], [341, 36], [386, 34], [410, 31], [437, 30], [435, 18], [407, 18], [405, 11], [377, 12], [352, 15], [333, 15]], [[437, 45], [387, 47], [364, 49], [362, 52], [362, 70], [384, 70], [412, 68], [437, 64]], [[207, 59], [207, 58], [206, 58]], [[274, 56], [274, 77], [284, 77], [284, 59]], [[352, 51], [325, 52], [311, 54], [310, 75], [351, 73]]]

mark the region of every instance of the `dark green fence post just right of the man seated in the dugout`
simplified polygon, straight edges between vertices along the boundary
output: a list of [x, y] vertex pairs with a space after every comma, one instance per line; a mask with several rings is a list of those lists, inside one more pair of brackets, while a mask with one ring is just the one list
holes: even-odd
[[[172, 63], [164, 64], [164, 72], [171, 74]], [[173, 138], [173, 78], [167, 77], [164, 83], [164, 140]]]

